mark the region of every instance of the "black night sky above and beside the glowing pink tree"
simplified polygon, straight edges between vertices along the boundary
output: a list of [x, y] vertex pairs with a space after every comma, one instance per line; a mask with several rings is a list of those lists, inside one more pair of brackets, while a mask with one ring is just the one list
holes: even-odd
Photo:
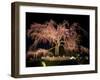
[[[34, 22], [45, 23], [46, 21], [54, 20], [56, 23], [62, 23], [64, 20], [68, 21], [69, 24], [77, 22], [80, 24], [81, 28], [85, 30], [82, 31], [82, 42], [81, 44], [89, 48], [89, 15], [71, 15], [71, 14], [49, 14], [49, 13], [30, 13], [26, 12], [26, 32], [30, 28], [30, 25]], [[32, 41], [26, 36], [26, 49], [31, 45]], [[26, 51], [27, 51], [26, 50]]]

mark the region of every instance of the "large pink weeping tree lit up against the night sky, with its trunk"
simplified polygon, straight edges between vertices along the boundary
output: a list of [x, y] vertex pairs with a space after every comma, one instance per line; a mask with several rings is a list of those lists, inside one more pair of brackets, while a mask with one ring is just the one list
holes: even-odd
[[48, 51], [55, 48], [56, 56], [59, 55], [59, 46], [64, 47], [65, 51], [78, 51], [81, 36], [77, 33], [78, 26], [77, 23], [69, 25], [65, 20], [62, 24], [56, 24], [53, 20], [45, 24], [34, 23], [27, 32], [28, 37], [33, 40], [30, 50], [35, 49], [39, 42], [49, 42], [53, 46]]

